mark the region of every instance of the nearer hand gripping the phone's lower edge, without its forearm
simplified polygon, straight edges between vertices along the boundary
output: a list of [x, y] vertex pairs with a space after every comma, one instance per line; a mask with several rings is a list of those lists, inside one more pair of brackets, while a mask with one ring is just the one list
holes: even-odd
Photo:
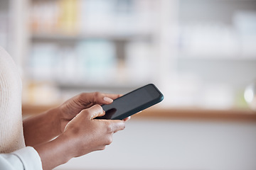
[[73, 143], [73, 157], [105, 149], [111, 144], [113, 133], [124, 129], [124, 120], [94, 119], [102, 115], [105, 111], [100, 105], [95, 105], [82, 110], [66, 125], [63, 135]]

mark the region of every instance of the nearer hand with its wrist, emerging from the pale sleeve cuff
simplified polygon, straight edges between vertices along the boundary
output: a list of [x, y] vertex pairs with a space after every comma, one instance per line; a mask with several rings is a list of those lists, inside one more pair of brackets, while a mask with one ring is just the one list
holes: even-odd
[[105, 149], [112, 142], [114, 132], [123, 130], [129, 120], [94, 119], [105, 115], [100, 105], [86, 108], [65, 126], [62, 134], [50, 142], [36, 145], [34, 148], [41, 157], [43, 169], [53, 169], [65, 164], [73, 157]]

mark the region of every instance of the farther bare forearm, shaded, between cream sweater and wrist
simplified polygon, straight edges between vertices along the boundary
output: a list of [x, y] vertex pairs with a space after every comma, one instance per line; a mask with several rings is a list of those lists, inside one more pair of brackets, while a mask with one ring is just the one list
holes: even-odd
[[34, 146], [52, 140], [60, 135], [58, 108], [23, 120], [23, 133], [27, 146]]

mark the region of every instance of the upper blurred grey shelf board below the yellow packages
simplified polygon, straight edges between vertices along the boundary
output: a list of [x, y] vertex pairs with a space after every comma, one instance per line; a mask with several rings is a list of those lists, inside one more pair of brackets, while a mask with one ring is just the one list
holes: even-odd
[[79, 41], [87, 39], [106, 39], [106, 40], [116, 40], [116, 41], [129, 41], [129, 40], [151, 40], [151, 34], [100, 34], [100, 33], [87, 33], [81, 35], [72, 34], [58, 34], [58, 33], [33, 33], [31, 35], [31, 40], [47, 40], [47, 41]]

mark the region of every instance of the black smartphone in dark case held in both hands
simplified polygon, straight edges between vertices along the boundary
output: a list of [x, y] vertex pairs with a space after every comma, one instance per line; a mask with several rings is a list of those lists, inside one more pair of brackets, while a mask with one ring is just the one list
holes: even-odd
[[105, 115], [97, 119], [122, 120], [161, 102], [164, 95], [154, 84], [147, 84], [139, 89], [116, 98], [109, 105], [102, 105]]

